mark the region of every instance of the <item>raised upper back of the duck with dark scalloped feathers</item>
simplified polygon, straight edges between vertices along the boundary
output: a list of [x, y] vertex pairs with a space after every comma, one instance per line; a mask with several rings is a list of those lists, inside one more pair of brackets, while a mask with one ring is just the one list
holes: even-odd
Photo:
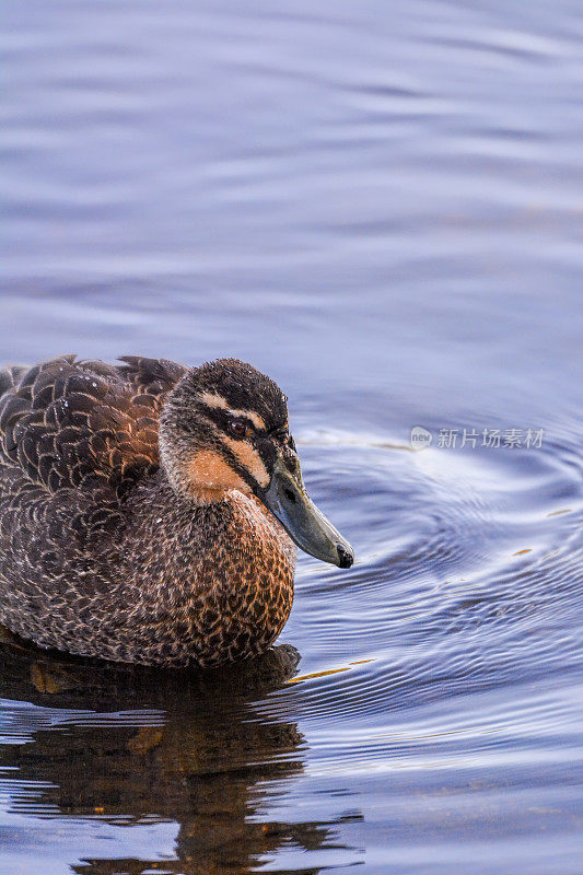
[[121, 494], [155, 469], [160, 408], [186, 369], [121, 361], [63, 355], [1, 371], [0, 479], [19, 474], [50, 493], [107, 486]]

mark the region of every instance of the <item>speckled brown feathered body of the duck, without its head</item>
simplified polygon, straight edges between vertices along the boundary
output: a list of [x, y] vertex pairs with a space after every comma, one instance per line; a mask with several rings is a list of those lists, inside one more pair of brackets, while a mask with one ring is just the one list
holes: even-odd
[[291, 609], [295, 548], [253, 497], [176, 493], [159, 419], [196, 372], [121, 361], [0, 371], [0, 622], [40, 646], [121, 662], [263, 652]]

